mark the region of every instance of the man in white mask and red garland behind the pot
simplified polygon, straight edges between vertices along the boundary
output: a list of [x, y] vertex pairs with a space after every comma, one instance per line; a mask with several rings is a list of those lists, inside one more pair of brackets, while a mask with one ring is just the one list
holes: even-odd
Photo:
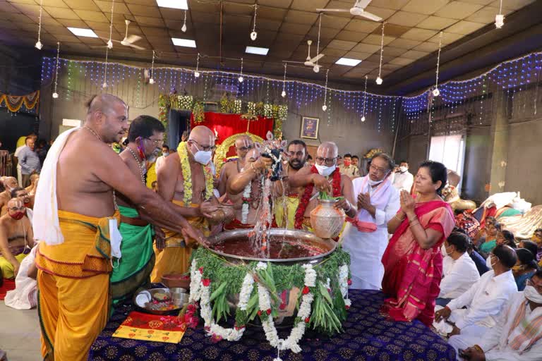
[[323, 142], [316, 151], [315, 165], [303, 167], [289, 178], [291, 188], [305, 187], [296, 210], [294, 228], [312, 231], [311, 211], [318, 205], [316, 193], [327, 192], [331, 197], [344, 197], [335, 203], [349, 217], [356, 215], [356, 200], [352, 181], [337, 168], [339, 149], [334, 142]]

